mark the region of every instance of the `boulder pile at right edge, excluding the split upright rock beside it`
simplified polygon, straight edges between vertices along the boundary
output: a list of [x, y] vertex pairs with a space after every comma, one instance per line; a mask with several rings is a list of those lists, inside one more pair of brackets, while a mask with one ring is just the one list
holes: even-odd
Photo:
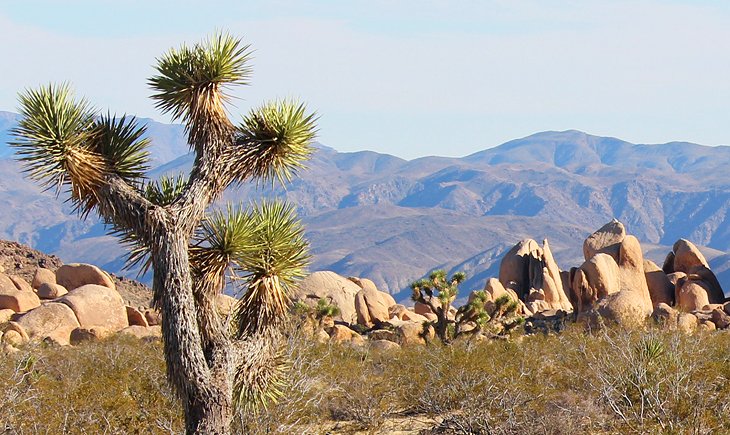
[[690, 241], [678, 240], [659, 268], [643, 258], [636, 237], [613, 220], [586, 239], [583, 253], [586, 262], [570, 270], [578, 319], [636, 326], [653, 315], [671, 329], [727, 328], [722, 287]]

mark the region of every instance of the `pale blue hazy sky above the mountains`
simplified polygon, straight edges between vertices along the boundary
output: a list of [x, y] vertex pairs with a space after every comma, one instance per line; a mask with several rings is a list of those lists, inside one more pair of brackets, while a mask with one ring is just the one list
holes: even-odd
[[321, 142], [463, 156], [543, 130], [730, 144], [730, 2], [0, 0], [0, 110], [70, 81], [157, 120], [155, 56], [214, 29], [256, 49], [234, 116], [283, 96]]

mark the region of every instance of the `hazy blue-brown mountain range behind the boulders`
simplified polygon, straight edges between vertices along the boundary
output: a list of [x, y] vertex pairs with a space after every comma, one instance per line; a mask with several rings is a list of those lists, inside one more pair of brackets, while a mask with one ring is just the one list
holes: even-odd
[[[22, 177], [6, 145], [17, 119], [0, 112], [0, 237], [121, 273], [123, 248], [103, 224], [79, 220]], [[187, 171], [183, 128], [145, 121], [149, 176]], [[637, 145], [573, 130], [462, 158], [403, 160], [318, 145], [291, 184], [240, 185], [222, 201], [286, 197], [306, 225], [312, 270], [369, 277], [394, 294], [436, 268], [463, 270], [462, 288], [481, 288], [497, 275], [501, 255], [528, 237], [548, 238], [563, 269], [578, 266], [585, 237], [614, 217], [660, 265], [679, 238], [702, 246], [730, 290], [728, 167], [730, 147]]]

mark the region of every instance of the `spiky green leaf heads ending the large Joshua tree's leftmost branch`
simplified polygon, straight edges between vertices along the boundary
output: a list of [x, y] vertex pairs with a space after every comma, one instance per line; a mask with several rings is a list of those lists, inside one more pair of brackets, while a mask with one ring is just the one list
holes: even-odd
[[22, 118], [10, 142], [29, 178], [45, 188], [63, 186], [86, 215], [98, 204], [108, 175], [136, 185], [147, 170], [149, 141], [134, 118], [111, 114], [95, 119], [86, 100], [67, 84], [49, 84], [19, 95]]

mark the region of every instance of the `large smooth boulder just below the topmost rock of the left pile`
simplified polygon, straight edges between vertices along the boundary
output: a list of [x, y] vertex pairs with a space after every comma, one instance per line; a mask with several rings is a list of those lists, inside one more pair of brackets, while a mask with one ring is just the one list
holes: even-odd
[[58, 299], [76, 314], [83, 328], [106, 328], [116, 332], [129, 326], [122, 297], [106, 286], [86, 284]]

